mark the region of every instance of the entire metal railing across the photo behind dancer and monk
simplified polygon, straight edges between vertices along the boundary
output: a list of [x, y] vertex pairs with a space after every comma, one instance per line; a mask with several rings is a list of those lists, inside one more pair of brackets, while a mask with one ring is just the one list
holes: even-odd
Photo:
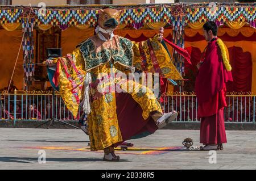
[[[51, 91], [15, 91], [0, 93], [0, 120], [75, 120], [59, 94]], [[176, 110], [177, 122], [199, 122], [197, 98], [194, 92], [174, 92], [162, 95], [163, 112]], [[226, 96], [224, 120], [226, 123], [255, 123], [255, 95], [229, 92]], [[79, 119], [82, 114], [79, 108]]]

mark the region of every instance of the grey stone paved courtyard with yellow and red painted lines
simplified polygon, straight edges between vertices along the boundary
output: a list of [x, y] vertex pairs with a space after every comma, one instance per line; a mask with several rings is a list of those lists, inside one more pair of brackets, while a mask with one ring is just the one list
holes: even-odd
[[[102, 161], [90, 151], [89, 137], [78, 129], [0, 128], [0, 169], [256, 169], [256, 132], [227, 131], [228, 144], [209, 163], [208, 151], [184, 151], [186, 137], [199, 144], [199, 131], [159, 130], [130, 140], [134, 148], [117, 150], [120, 162]], [[39, 164], [38, 151], [46, 151]]]

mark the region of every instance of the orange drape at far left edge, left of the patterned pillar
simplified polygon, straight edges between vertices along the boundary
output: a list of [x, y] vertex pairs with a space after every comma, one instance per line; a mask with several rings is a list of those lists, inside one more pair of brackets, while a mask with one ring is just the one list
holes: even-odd
[[[2, 74], [0, 78], [0, 89], [8, 86], [8, 81], [13, 73], [16, 56], [18, 55], [19, 46], [22, 41], [22, 30], [16, 31], [5, 31], [0, 30], [0, 72]], [[22, 50], [19, 53], [18, 61], [16, 64], [16, 69], [14, 71], [14, 85], [22, 90], [23, 87], [23, 75], [24, 70], [22, 68], [23, 64], [23, 54]]]

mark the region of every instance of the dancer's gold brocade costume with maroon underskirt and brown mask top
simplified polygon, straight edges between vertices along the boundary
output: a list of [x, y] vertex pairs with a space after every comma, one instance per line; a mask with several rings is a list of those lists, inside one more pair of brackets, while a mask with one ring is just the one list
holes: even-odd
[[[116, 10], [105, 9], [99, 21], [105, 18], [106, 22], [108, 17], [115, 16]], [[100, 27], [101, 23], [98, 22]], [[158, 36], [135, 43], [117, 35], [106, 41], [95, 35], [81, 43], [71, 54], [58, 58], [53, 82], [59, 87], [67, 108], [75, 116], [84, 99], [86, 74], [91, 79], [87, 86], [90, 106], [87, 123], [91, 150], [117, 146], [125, 140], [144, 137], [158, 129], [150, 115], [152, 112], [162, 113], [162, 110], [153, 92], [135, 81], [111, 76], [120, 72], [128, 74], [130, 71], [127, 69], [131, 66], [145, 73], [183, 79]], [[137, 84], [135, 89], [146, 89], [146, 92], [99, 92], [97, 88], [102, 74], [109, 78], [108, 83], [101, 85], [103, 88], [126, 82]]]

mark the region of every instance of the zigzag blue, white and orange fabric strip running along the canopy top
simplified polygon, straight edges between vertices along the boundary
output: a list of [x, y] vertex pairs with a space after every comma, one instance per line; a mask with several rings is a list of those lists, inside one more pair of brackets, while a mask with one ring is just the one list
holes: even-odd
[[[178, 22], [182, 24], [206, 22], [215, 20], [218, 22], [236, 21], [247, 22], [255, 27], [256, 3], [204, 3], [204, 4], [165, 4], [154, 6], [113, 6], [121, 9], [122, 24], [143, 24], [147, 22], [167, 22], [172, 25]], [[103, 7], [103, 6], [102, 6]], [[176, 8], [179, 7], [179, 8]], [[32, 7], [35, 24], [52, 24], [58, 26], [71, 26], [76, 24], [89, 24], [95, 26], [97, 14], [101, 6], [64, 6], [47, 7], [42, 14], [38, 7]], [[22, 19], [23, 7], [0, 6], [0, 23], [19, 23]]]

